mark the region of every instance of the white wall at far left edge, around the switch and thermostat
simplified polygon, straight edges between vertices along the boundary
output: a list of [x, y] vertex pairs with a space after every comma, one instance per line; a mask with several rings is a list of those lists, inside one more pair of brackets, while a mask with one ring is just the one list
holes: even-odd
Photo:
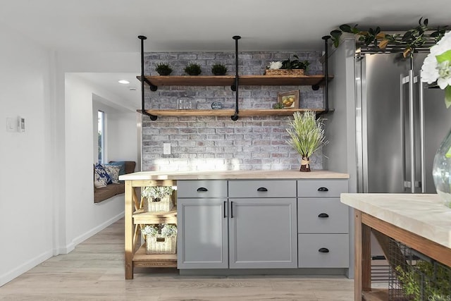
[[[51, 52], [0, 26], [0, 285], [52, 256]], [[25, 117], [25, 133], [6, 118]]]

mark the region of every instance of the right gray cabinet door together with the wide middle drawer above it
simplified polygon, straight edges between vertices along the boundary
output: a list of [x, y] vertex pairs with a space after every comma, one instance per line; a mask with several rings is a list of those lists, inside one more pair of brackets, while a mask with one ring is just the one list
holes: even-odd
[[230, 268], [296, 268], [296, 181], [230, 180], [228, 191]]

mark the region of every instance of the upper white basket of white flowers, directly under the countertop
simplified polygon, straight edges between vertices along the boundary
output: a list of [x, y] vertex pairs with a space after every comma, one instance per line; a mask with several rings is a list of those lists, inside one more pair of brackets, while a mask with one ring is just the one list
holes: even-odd
[[173, 194], [171, 186], [149, 186], [141, 191], [142, 208], [145, 212], [171, 211]]

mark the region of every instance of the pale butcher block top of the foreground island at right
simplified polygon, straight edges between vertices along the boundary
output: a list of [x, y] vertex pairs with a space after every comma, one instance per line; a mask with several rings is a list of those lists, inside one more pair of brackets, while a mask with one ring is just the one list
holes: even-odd
[[341, 202], [451, 248], [451, 209], [438, 195], [342, 193]]

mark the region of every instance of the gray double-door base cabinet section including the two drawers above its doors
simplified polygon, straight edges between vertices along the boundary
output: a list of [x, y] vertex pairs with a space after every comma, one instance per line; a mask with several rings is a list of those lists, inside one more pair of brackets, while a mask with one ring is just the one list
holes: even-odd
[[297, 268], [295, 180], [179, 180], [177, 206], [178, 269]]

